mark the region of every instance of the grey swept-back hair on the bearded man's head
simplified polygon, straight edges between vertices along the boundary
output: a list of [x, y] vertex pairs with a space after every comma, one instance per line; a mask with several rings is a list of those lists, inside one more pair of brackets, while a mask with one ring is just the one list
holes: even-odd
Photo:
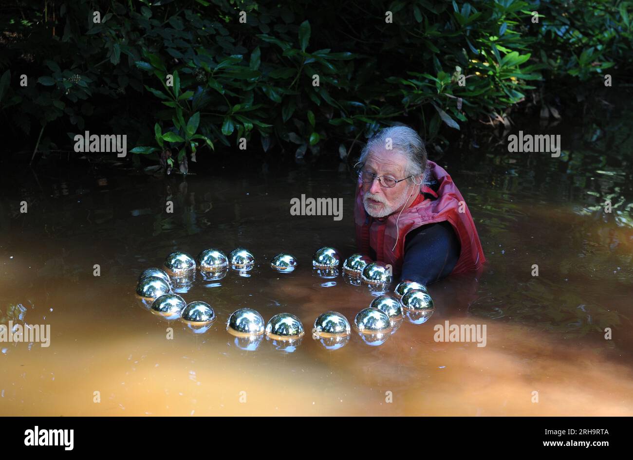
[[[391, 147], [394, 151], [403, 154], [407, 159], [404, 175], [415, 177], [422, 176], [422, 183], [428, 183], [429, 168], [427, 166], [427, 149], [424, 141], [420, 139], [415, 130], [406, 125], [397, 125], [383, 128], [374, 134], [360, 153], [359, 163], [365, 163], [368, 154], [374, 149], [384, 149], [387, 139], [391, 139]], [[409, 179], [413, 181], [413, 177]]]

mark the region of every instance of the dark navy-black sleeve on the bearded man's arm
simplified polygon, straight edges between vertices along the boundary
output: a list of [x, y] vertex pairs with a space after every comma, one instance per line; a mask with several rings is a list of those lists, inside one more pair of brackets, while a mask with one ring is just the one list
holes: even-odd
[[448, 221], [422, 225], [407, 233], [400, 280], [427, 285], [448, 276], [460, 258], [460, 240]]

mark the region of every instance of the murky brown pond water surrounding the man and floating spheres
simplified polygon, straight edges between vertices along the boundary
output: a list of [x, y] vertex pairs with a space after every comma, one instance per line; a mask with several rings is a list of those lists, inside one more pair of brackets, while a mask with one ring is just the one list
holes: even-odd
[[[247, 306], [265, 320], [294, 313], [309, 331], [324, 311], [351, 321], [368, 306], [367, 288], [318, 278], [310, 263], [321, 246], [354, 252], [347, 173], [7, 178], [0, 322], [16, 321], [11, 305], [21, 304], [23, 321], [50, 324], [52, 337], [49, 347], [0, 344], [0, 413], [633, 415], [630, 159], [499, 152], [439, 160], [477, 222], [488, 260], [480, 277], [430, 285], [437, 308], [426, 323], [405, 321], [380, 346], [352, 335], [337, 350], [308, 333], [294, 349], [264, 339], [245, 351], [225, 322]], [[290, 200], [301, 194], [342, 197], [343, 219], [291, 216]], [[611, 214], [598, 206], [607, 197], [622, 202]], [[27, 214], [19, 213], [22, 200]], [[215, 308], [207, 333], [135, 302], [139, 273], [174, 249], [196, 256], [237, 246], [258, 259], [250, 277], [231, 272], [210, 282], [198, 273], [182, 294]], [[282, 251], [299, 259], [294, 273], [270, 269]], [[434, 325], [446, 320], [485, 324], [486, 347], [435, 342]]]

